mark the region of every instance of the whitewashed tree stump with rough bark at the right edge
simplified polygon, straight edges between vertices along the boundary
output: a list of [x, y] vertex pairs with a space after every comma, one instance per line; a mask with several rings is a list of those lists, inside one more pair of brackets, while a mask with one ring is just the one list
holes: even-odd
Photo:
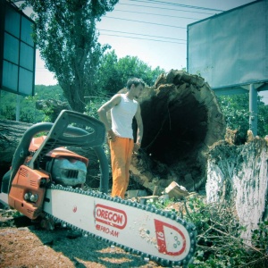
[[227, 200], [236, 204], [241, 237], [250, 245], [251, 230], [268, 219], [268, 145], [255, 138], [242, 146], [214, 144], [208, 153], [206, 197], [209, 203]]

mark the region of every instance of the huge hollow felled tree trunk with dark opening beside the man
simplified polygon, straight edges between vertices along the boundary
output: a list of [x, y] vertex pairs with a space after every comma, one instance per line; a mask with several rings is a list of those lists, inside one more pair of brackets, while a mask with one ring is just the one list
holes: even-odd
[[172, 181], [189, 191], [205, 188], [205, 153], [225, 134], [223, 115], [205, 80], [170, 71], [145, 88], [138, 101], [144, 136], [130, 179], [151, 192]]

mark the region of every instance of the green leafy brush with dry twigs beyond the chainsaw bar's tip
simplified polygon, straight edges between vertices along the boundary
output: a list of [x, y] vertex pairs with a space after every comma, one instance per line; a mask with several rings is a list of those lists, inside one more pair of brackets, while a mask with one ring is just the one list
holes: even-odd
[[[252, 246], [240, 238], [241, 230], [234, 205], [205, 204], [189, 199], [186, 219], [197, 227], [197, 252], [189, 267], [265, 267], [268, 261], [268, 222], [253, 230]], [[250, 265], [249, 265], [250, 264]]]

